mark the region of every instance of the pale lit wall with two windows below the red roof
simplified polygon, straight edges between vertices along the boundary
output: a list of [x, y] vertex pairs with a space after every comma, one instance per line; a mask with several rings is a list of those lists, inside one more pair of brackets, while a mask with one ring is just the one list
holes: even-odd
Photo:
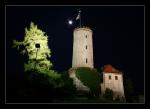
[[102, 94], [105, 93], [106, 88], [114, 92], [114, 98], [117, 96], [124, 97], [122, 73], [103, 72], [103, 83], [101, 84]]

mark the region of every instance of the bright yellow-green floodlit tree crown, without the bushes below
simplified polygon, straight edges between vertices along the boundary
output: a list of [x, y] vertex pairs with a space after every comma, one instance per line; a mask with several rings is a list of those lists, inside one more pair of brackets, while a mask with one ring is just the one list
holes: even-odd
[[[13, 43], [13, 47], [20, 50], [22, 54], [28, 55], [29, 65], [31, 65], [31, 63], [33, 64], [36, 60], [39, 67], [46, 67], [47, 69], [52, 67], [52, 63], [48, 60], [51, 56], [51, 51], [48, 47], [48, 36], [45, 35], [45, 32], [38, 29], [37, 25], [35, 25], [33, 22], [31, 22], [29, 29], [25, 28], [24, 40], [13, 40]], [[40, 48], [36, 48], [36, 44], [40, 44]], [[29, 67], [25, 65], [25, 71], [29, 70], [29, 68], [33, 68], [33, 66]]]

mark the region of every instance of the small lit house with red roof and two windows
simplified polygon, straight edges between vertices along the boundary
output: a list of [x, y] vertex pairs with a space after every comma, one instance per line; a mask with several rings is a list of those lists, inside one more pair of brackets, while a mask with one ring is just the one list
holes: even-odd
[[114, 98], [124, 98], [123, 87], [123, 74], [119, 70], [115, 69], [111, 65], [105, 65], [103, 68], [103, 83], [101, 83], [102, 95], [105, 94], [105, 90], [111, 89], [114, 94]]

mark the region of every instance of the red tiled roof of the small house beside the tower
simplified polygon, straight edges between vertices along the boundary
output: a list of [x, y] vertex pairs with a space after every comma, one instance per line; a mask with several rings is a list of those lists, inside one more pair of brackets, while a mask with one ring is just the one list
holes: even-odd
[[118, 73], [118, 74], [121, 73], [119, 70], [115, 69], [115, 68], [114, 68], [112, 65], [110, 65], [110, 64], [105, 65], [102, 70], [103, 70], [103, 72], [105, 72], [105, 73]]

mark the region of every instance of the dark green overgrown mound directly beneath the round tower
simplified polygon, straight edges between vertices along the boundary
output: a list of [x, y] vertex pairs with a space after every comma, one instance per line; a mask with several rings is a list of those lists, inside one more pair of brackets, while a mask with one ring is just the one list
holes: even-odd
[[90, 94], [99, 96], [100, 94], [100, 74], [96, 69], [81, 67], [77, 68], [76, 76], [82, 83], [90, 88]]

